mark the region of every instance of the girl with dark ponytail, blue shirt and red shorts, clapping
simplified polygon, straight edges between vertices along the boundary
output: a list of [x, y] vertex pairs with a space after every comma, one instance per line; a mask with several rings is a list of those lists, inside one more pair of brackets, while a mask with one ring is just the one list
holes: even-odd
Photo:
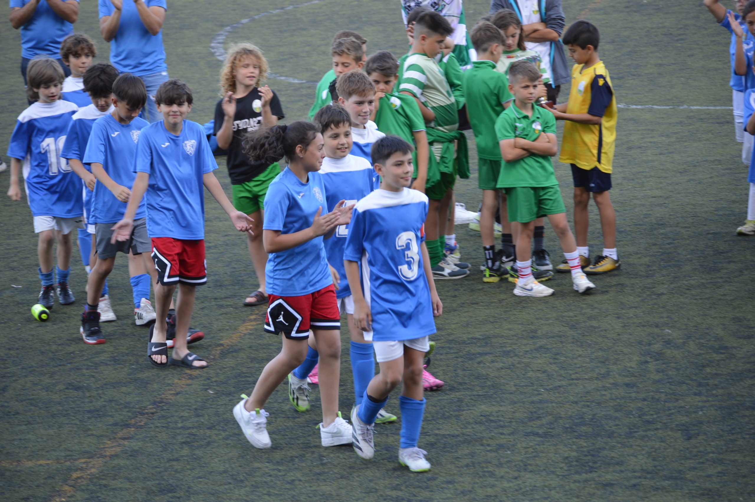
[[282, 334], [282, 350], [268, 362], [252, 390], [233, 408], [246, 438], [256, 448], [270, 448], [265, 402], [307, 356], [313, 331], [320, 358], [323, 446], [351, 442], [351, 426], [338, 411], [341, 366], [341, 316], [334, 277], [323, 239], [351, 220], [353, 205], [338, 202], [327, 212], [325, 185], [319, 174], [324, 156], [322, 134], [309, 122], [253, 131], [243, 143], [253, 162], [268, 165], [285, 157], [288, 166], [267, 189], [263, 245], [269, 254], [265, 279], [269, 304], [265, 331]]

